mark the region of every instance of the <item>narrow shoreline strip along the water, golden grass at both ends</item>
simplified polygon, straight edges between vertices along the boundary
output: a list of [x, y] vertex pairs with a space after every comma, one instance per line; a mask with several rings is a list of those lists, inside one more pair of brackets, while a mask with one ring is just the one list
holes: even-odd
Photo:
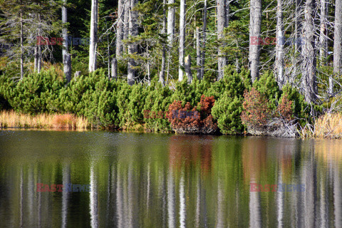
[[[93, 131], [110, 130], [123, 133], [165, 133], [183, 135], [175, 131], [153, 131], [145, 128], [145, 125], [136, 123], [128, 128], [103, 128], [98, 125], [92, 125], [86, 118], [78, 117], [73, 114], [22, 114], [14, 110], [0, 111], [0, 130], [55, 130], [55, 131]], [[291, 138], [321, 138], [321, 139], [342, 139], [342, 115], [341, 113], [326, 113], [314, 121], [313, 125], [305, 125], [304, 128], [297, 129], [298, 136]], [[214, 134], [195, 134], [185, 133], [184, 135], [229, 135], [222, 133]], [[275, 138], [272, 135], [252, 135], [250, 133], [235, 134], [239, 136], [263, 136]]]

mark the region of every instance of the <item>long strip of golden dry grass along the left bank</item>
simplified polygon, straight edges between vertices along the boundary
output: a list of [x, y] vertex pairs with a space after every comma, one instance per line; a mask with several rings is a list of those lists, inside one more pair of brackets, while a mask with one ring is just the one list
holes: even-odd
[[86, 118], [71, 114], [19, 114], [11, 111], [0, 112], [0, 128], [63, 128], [87, 129], [91, 128]]

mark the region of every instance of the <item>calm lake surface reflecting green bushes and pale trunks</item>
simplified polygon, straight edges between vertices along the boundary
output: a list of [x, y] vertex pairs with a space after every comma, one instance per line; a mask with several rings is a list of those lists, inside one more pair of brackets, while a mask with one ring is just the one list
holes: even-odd
[[342, 227], [342, 140], [3, 130], [0, 227]]

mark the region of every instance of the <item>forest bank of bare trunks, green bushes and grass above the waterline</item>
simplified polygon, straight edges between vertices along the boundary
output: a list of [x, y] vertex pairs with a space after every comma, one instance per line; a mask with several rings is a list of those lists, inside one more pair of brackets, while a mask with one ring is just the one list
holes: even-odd
[[342, 137], [342, 0], [1, 0], [0, 43], [0, 128]]

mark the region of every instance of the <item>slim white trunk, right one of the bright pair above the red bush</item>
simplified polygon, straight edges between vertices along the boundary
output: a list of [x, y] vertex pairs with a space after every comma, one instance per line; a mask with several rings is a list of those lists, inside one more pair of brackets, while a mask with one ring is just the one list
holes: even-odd
[[183, 80], [184, 76], [184, 48], [185, 48], [185, 12], [186, 12], [186, 0], [180, 1], [180, 66], [178, 81]]

